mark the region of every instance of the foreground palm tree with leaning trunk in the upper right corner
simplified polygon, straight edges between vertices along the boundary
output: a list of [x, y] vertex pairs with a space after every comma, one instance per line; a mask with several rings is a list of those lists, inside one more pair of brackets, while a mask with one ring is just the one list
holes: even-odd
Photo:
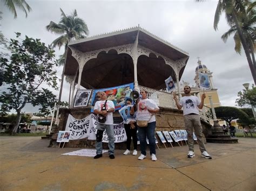
[[[196, 1], [201, 2], [204, 0], [196, 0]], [[250, 9], [248, 9], [248, 8], [254, 7], [255, 6], [254, 3], [251, 3], [251, 1], [249, 1], [249, 0], [219, 0], [216, 11], [215, 11], [213, 27], [214, 27], [214, 30], [218, 30], [220, 15], [221, 15], [221, 13], [225, 12], [227, 23], [231, 26], [231, 28], [232, 28], [232, 26], [235, 27], [237, 35], [235, 35], [234, 38], [240, 39], [241, 45], [245, 51], [246, 59], [247, 59], [248, 65], [250, 67], [254, 83], [256, 83], [256, 66], [255, 66], [255, 61], [253, 62], [252, 58], [251, 58], [251, 54], [253, 57], [254, 56], [253, 54], [255, 51], [254, 51], [254, 48], [252, 51], [252, 48], [251, 48], [252, 45], [249, 45], [249, 46], [247, 45], [246, 38], [248, 38], [248, 36], [246, 37], [244, 34], [245, 31], [242, 30], [242, 24], [243, 24], [243, 22], [245, 22], [245, 20], [242, 19], [242, 17], [245, 18], [245, 17], [249, 16], [246, 14], [246, 8], [247, 8], [247, 12], [251, 12]], [[253, 23], [255, 24], [255, 18], [256, 18], [255, 11], [252, 11], [251, 14], [252, 14], [252, 16], [251, 16], [252, 24], [250, 24], [250, 25], [253, 26]], [[248, 18], [248, 20], [250, 20], [250, 19]], [[234, 28], [233, 28], [233, 30], [234, 30]], [[244, 30], [245, 30], [245, 26], [244, 26]], [[248, 33], [250, 33], [249, 30], [248, 30]], [[225, 36], [225, 34], [224, 34], [224, 36]], [[224, 39], [225, 38], [227, 38], [227, 37], [224, 37]], [[254, 27], [254, 32], [251, 33], [250, 38], [251, 39], [254, 38], [254, 41], [255, 41], [255, 27]], [[237, 49], [239, 49], [239, 47], [237, 47]]]

